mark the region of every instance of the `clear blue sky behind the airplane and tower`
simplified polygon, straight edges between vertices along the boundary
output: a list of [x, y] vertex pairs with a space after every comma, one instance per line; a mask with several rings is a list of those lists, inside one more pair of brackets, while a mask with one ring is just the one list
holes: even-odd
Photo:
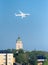
[[25, 50], [48, 51], [48, 0], [0, 0], [0, 49], [15, 49], [18, 36]]

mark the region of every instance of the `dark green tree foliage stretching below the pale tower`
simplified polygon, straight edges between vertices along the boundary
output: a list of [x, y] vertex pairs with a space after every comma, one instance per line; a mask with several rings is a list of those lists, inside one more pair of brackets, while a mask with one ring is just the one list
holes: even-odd
[[[23, 49], [7, 49], [7, 50], [0, 50], [0, 53], [13, 53], [17, 63], [21, 63], [22, 65], [37, 65], [37, 57], [41, 56], [40, 58], [47, 58], [48, 60], [48, 52], [45, 51], [24, 51]], [[44, 65], [48, 65], [47, 62]]]

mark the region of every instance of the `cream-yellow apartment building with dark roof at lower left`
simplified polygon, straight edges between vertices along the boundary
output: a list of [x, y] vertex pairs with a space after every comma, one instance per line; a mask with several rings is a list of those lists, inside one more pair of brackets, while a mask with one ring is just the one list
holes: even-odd
[[0, 65], [13, 65], [13, 53], [0, 52]]

